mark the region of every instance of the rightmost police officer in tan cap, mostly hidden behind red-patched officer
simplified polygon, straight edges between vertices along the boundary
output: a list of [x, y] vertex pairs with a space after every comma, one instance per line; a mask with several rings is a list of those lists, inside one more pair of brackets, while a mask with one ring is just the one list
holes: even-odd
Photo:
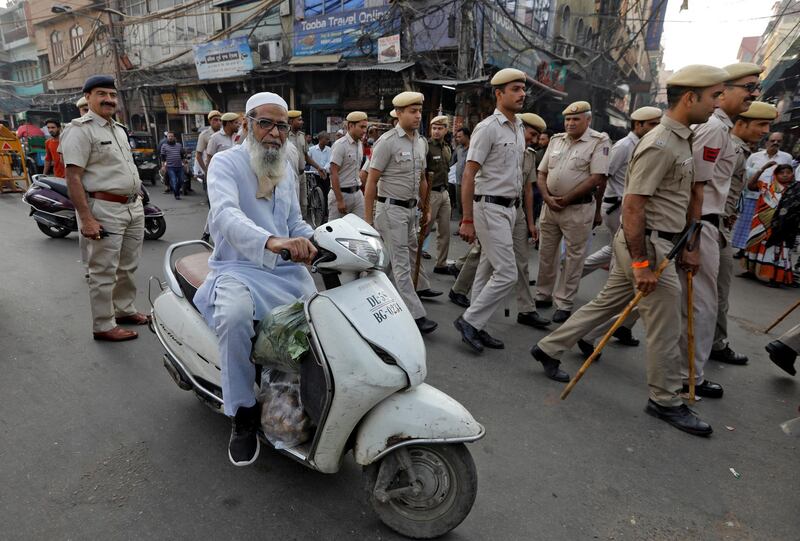
[[[754, 101], [750, 108], [733, 120], [731, 141], [735, 153], [735, 164], [731, 175], [731, 187], [725, 200], [725, 213], [720, 222], [722, 235], [719, 250], [719, 273], [717, 275], [717, 324], [714, 329], [714, 345], [710, 358], [731, 364], [743, 364], [747, 357], [734, 352], [728, 344], [728, 296], [733, 279], [733, 246], [731, 236], [733, 224], [739, 215], [739, 196], [746, 184], [745, 164], [750, 157], [750, 145], [757, 144], [769, 133], [770, 123], [778, 117], [774, 105]], [[752, 173], [752, 172], [751, 172]], [[740, 362], [737, 363], [736, 361]]]

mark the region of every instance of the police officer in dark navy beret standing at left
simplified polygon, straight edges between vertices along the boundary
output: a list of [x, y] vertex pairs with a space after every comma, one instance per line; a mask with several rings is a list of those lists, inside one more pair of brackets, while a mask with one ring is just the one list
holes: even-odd
[[134, 304], [134, 272], [144, 239], [141, 181], [128, 134], [113, 119], [117, 109], [114, 78], [89, 77], [83, 93], [90, 111], [72, 120], [61, 149], [81, 234], [89, 240], [92, 330], [95, 340], [131, 340], [137, 333], [118, 324], [149, 321]]

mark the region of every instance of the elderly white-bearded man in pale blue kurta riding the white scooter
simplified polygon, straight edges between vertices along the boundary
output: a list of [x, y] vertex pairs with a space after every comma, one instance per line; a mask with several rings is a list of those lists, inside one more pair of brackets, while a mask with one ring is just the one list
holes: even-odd
[[[214, 252], [211, 273], [194, 297], [219, 338], [225, 414], [233, 424], [228, 457], [235, 466], [252, 464], [260, 450], [253, 322], [315, 291], [309, 272], [295, 262], [310, 263], [317, 252], [287, 162], [288, 106], [277, 94], [260, 92], [246, 110], [245, 143], [216, 154], [208, 169]], [[278, 256], [284, 249], [291, 261]]]

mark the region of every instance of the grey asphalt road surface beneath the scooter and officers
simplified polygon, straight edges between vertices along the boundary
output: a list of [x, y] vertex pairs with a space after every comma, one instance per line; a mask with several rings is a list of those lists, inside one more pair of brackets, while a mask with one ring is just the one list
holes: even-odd
[[[196, 238], [205, 218], [199, 195], [153, 195], [168, 227], [145, 244], [140, 308], [166, 246]], [[127, 344], [91, 339], [74, 235], [46, 238], [11, 194], [0, 196], [0, 227], [3, 538], [397, 538], [365, 506], [350, 457], [332, 476], [271, 451], [254, 467], [230, 466], [228, 420], [174, 385], [150, 333]], [[587, 278], [581, 302], [603, 279]], [[433, 278], [445, 291], [451, 282]], [[711, 363], [725, 398], [696, 406], [715, 428], [710, 439], [643, 413], [643, 347], [610, 346], [561, 402], [561, 385], [528, 354], [541, 332], [497, 314], [490, 329], [507, 348], [476, 356], [452, 328], [457, 307], [428, 302], [441, 325], [427, 340], [428, 382], [487, 428], [470, 445], [475, 507], [448, 538], [798, 539], [800, 439], [778, 425], [797, 416], [800, 384], [768, 361], [770, 338], [757, 329], [800, 295], [741, 279], [734, 288], [733, 343], [751, 363]], [[579, 361], [568, 354], [566, 369]]]

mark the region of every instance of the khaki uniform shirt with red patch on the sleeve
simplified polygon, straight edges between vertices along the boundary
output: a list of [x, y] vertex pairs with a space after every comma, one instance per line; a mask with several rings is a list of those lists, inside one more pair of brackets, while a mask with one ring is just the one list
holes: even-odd
[[694, 128], [694, 178], [705, 182], [703, 214], [722, 214], [731, 187], [736, 152], [730, 131], [733, 122], [717, 108], [705, 124]]

